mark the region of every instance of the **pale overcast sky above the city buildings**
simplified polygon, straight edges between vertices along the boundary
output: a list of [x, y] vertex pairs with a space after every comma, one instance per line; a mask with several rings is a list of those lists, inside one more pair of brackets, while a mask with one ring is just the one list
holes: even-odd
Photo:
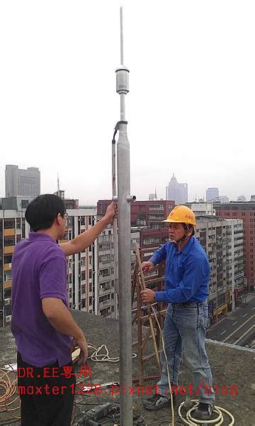
[[41, 192], [111, 197], [120, 119], [115, 68], [130, 69], [131, 193], [147, 200], [175, 173], [189, 200], [207, 187], [255, 193], [255, 2], [0, 2], [0, 196], [6, 164], [39, 167]]

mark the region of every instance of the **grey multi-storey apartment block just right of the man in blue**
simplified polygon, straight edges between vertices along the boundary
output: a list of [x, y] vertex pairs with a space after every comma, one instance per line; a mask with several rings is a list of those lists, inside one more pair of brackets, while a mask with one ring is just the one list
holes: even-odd
[[214, 216], [196, 220], [196, 238], [210, 262], [209, 312], [217, 322], [234, 309], [234, 290], [244, 288], [243, 222]]

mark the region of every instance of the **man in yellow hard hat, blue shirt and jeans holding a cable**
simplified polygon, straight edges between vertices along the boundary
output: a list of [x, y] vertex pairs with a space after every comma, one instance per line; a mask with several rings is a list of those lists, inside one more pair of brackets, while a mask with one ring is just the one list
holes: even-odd
[[[194, 235], [196, 218], [187, 206], [176, 206], [164, 222], [169, 223], [169, 241], [155, 251], [142, 269], [151, 272], [154, 266], [166, 261], [164, 291], [142, 290], [144, 303], [169, 303], [164, 322], [164, 342], [170, 379], [178, 386], [182, 349], [193, 373], [193, 391], [198, 396], [198, 408], [192, 416], [209, 420], [214, 408], [215, 393], [212, 373], [205, 351], [205, 329], [208, 322], [208, 257]], [[157, 383], [157, 394], [144, 401], [145, 408], [159, 410], [169, 406], [169, 382], [166, 359], [161, 354], [162, 377]], [[174, 395], [173, 395], [174, 396]]]

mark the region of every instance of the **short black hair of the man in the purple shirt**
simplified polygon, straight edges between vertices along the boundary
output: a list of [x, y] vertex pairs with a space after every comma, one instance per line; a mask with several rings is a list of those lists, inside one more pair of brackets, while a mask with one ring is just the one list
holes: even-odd
[[60, 197], [44, 194], [39, 195], [28, 204], [25, 217], [33, 231], [36, 232], [40, 229], [49, 229], [57, 214], [60, 213], [64, 217], [65, 212], [66, 208]]

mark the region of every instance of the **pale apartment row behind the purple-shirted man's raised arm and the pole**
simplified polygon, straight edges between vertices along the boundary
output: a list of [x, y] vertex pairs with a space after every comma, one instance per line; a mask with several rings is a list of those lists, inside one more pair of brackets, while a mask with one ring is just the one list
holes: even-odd
[[[67, 209], [68, 219], [64, 241], [70, 241], [88, 230], [101, 215], [96, 207]], [[137, 229], [131, 232], [131, 266], [135, 264], [135, 243], [139, 242]], [[67, 258], [67, 285], [69, 307], [104, 317], [118, 317], [118, 297], [115, 293], [113, 226], [101, 232], [85, 251]]]

